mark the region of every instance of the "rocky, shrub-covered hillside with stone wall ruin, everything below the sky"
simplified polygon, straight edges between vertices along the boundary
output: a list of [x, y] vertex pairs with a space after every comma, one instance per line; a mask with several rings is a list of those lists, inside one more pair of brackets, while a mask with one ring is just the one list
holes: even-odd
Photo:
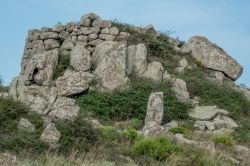
[[93, 13], [29, 30], [20, 75], [0, 88], [0, 164], [249, 165], [242, 72], [206, 37]]

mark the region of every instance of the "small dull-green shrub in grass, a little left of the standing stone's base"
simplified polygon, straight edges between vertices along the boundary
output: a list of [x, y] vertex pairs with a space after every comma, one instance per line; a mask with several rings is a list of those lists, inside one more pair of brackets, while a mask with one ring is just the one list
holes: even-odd
[[117, 141], [120, 137], [119, 133], [113, 127], [100, 127], [98, 131], [101, 134], [101, 137], [105, 141]]

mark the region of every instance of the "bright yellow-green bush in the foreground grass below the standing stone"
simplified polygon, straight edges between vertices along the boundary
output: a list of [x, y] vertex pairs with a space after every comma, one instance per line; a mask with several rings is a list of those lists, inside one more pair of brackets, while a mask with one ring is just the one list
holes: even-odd
[[144, 155], [155, 160], [164, 160], [177, 152], [177, 147], [166, 138], [143, 139], [136, 142], [130, 152], [131, 155]]

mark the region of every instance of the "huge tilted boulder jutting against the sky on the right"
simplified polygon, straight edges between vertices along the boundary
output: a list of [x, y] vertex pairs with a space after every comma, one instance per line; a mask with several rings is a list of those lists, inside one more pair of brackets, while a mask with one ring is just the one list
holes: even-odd
[[192, 51], [192, 56], [205, 68], [220, 71], [232, 80], [237, 80], [243, 72], [236, 60], [205, 37], [191, 37], [184, 48]]

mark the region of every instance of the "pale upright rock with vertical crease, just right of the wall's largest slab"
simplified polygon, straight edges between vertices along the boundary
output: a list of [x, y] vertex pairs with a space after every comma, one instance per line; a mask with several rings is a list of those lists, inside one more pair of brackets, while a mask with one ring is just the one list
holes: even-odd
[[147, 69], [147, 48], [144, 44], [128, 47], [128, 74], [142, 76]]

